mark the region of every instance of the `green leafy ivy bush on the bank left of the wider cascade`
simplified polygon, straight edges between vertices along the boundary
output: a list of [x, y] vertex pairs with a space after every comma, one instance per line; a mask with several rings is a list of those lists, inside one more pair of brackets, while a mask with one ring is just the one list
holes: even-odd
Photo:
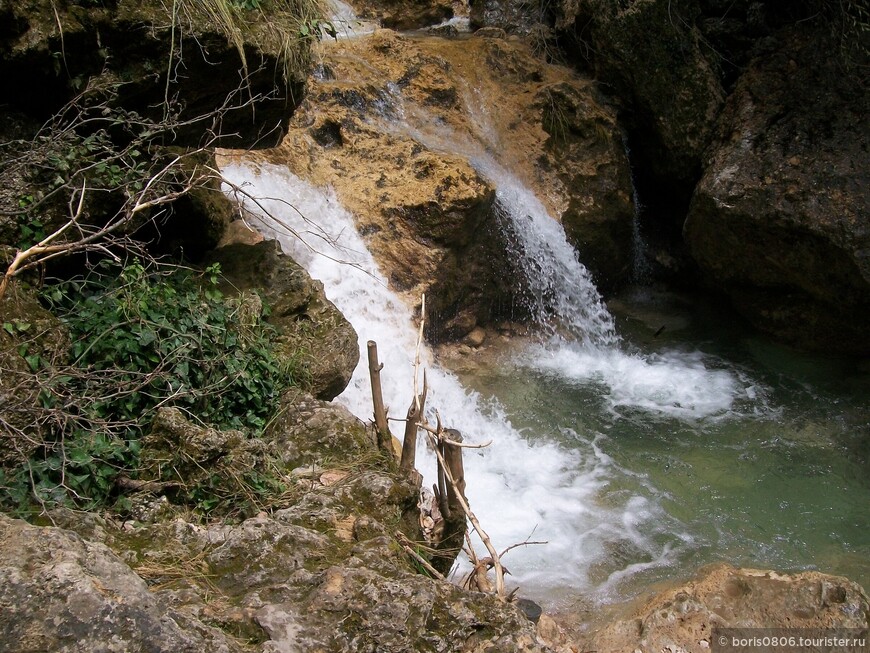
[[[140, 440], [159, 407], [174, 406], [218, 429], [262, 431], [296, 370], [271, 353], [254, 295], [227, 299], [220, 270], [104, 263], [84, 279], [43, 292], [70, 331], [69, 363], [19, 353], [41, 389], [31, 433], [42, 441], [18, 469], [0, 471], [0, 503], [19, 514], [36, 506], [107, 505], [120, 474], [136, 475]], [[27, 324], [4, 323], [7, 333]], [[275, 477], [246, 470], [238, 487], [206, 475], [183, 498], [203, 510], [227, 500], [280, 493]], [[210, 487], [211, 486], [211, 487]]]

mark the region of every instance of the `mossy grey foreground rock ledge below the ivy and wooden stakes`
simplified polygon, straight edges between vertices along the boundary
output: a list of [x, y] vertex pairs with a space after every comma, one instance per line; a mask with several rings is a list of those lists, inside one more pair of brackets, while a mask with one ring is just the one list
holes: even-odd
[[[89, 552], [89, 561], [95, 553], [110, 557], [113, 575], [129, 579], [134, 592], [111, 578], [93, 574], [90, 591], [99, 594], [103, 588], [107, 595], [104, 602], [114, 607], [107, 605], [101, 613], [107, 625], [88, 633], [92, 648], [87, 649], [55, 648], [47, 639], [60, 637], [58, 633], [78, 628], [79, 623], [77, 617], [57, 609], [56, 603], [65, 601], [62, 589], [47, 583], [48, 589], [57, 592], [51, 595], [56, 603], [46, 608], [54, 609], [54, 618], [40, 621], [49, 634], [45, 640], [49, 650], [105, 650], [113, 638], [127, 643], [125, 623], [110, 619], [112, 615], [120, 619], [131, 614], [145, 601], [140, 597], [144, 592], [148, 614], [163, 618], [162, 629], [151, 629], [156, 637], [165, 637], [166, 648], [155, 646], [157, 651], [169, 650], [169, 646], [187, 651], [195, 645], [179, 643], [172, 631], [167, 634], [172, 626], [170, 618], [187, 626], [188, 637], [200, 642], [201, 648], [196, 650], [205, 653], [238, 650], [227, 633], [243, 637], [262, 653], [550, 651], [538, 638], [534, 624], [515, 606], [413, 570], [393, 539], [396, 530], [405, 528], [401, 513], [409, 505], [416, 520], [417, 488], [413, 483], [376, 466], [353, 471], [329, 486], [306, 483], [302, 481], [294, 489], [297, 500], [292, 505], [239, 524], [200, 525], [176, 518], [128, 530], [118, 529], [111, 521], [95, 524], [72, 511], [63, 515], [65, 525], [104, 540], [150, 582], [159, 584], [161, 589], [153, 593], [148, 593], [141, 579], [105, 546], [83, 542], [56, 528], [24, 527], [33, 533], [33, 541], [26, 546], [14, 537], [0, 540], [0, 553], [5, 554], [7, 544], [15, 550], [0, 562], [0, 570], [11, 568], [9, 575], [23, 575], [18, 564], [21, 551], [40, 550], [42, 542], [47, 546], [40, 555], [65, 559], [67, 543], [73, 542]], [[6, 535], [2, 526], [8, 521], [0, 521], [0, 535]], [[348, 537], [341, 528], [351, 521]], [[36, 578], [43, 580], [44, 576], [37, 574]], [[0, 597], [4, 597], [2, 587]], [[27, 619], [37, 608], [27, 609], [31, 612], [24, 615], [4, 610], [0, 624], [11, 625], [2, 632], [32, 630]], [[134, 621], [133, 626], [147, 630], [143, 619]], [[205, 622], [213, 629], [204, 630], [201, 624]], [[208, 633], [214, 633], [215, 642], [223, 636], [225, 646], [202, 642]], [[200, 639], [195, 640], [197, 637]], [[8, 641], [16, 640], [4, 643]], [[135, 642], [129, 649], [136, 650]]]

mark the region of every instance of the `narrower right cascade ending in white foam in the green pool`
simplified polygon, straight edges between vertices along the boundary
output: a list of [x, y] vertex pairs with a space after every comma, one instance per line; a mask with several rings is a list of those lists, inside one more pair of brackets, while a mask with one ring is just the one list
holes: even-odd
[[569, 382], [604, 386], [611, 410], [634, 407], [697, 419], [727, 415], [735, 399], [751, 393], [729, 371], [712, 369], [699, 352], [666, 351], [640, 356], [620, 343], [613, 317], [602, 301], [565, 230], [519, 179], [496, 161], [497, 132], [474, 94], [465, 93], [466, 113], [481, 140], [457, 137], [400, 95], [384, 129], [403, 132], [427, 147], [459, 153], [496, 188], [497, 210], [508, 222], [512, 252], [521, 260], [537, 318], [549, 338], [531, 346], [518, 365]]

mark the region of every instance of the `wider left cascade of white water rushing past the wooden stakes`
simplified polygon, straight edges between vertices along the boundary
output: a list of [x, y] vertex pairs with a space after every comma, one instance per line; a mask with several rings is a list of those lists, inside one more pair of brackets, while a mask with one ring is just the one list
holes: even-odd
[[[338, 401], [361, 419], [370, 419], [365, 344], [375, 340], [384, 363], [385, 401], [392, 415], [404, 416], [412, 396], [416, 326], [409, 309], [387, 287], [353, 216], [332, 192], [308, 185], [285, 168], [232, 164], [222, 172], [280, 219], [284, 226], [265, 216], [258, 226], [323, 282], [329, 299], [359, 334], [361, 362]], [[251, 202], [242, 201], [258, 213]], [[674, 536], [674, 524], [654, 501], [629, 495], [619, 505], [605, 506], [598, 500], [608, 483], [628, 472], [596, 440], [577, 435], [578, 445], [571, 450], [530, 442], [512, 427], [499, 406], [465, 390], [454, 375], [433, 361], [428, 349], [422, 354], [430, 386], [427, 408], [438, 409], [445, 425], [459, 429], [466, 441], [493, 441], [487, 449], [468, 450], [465, 462], [469, 501], [496, 547], [506, 548], [530, 536], [548, 542], [515, 549], [505, 561], [512, 582], [523, 586], [526, 595], [553, 602], [560, 593], [606, 593], [611, 582], [630, 573], [617, 568], [612, 581], [604, 583], [590, 578], [593, 567], [611, 564], [614, 547], [630, 546], [647, 567], [672, 559], [681, 538]], [[401, 429], [394, 431], [401, 433]], [[418, 468], [431, 484], [434, 460], [422, 442]], [[662, 542], [657, 536], [665, 530], [668, 541]]]

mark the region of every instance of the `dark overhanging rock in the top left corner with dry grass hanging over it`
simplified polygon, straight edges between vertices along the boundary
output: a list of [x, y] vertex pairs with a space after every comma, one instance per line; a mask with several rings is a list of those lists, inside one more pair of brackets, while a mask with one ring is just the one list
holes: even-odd
[[[176, 145], [217, 137], [228, 146], [274, 145], [301, 100], [309, 42], [285, 38], [259, 12], [210, 7], [4, 3], [0, 104], [42, 121], [79, 92], [103, 86], [131, 120], [163, 120], [172, 111]], [[290, 31], [299, 18], [285, 20]]]

